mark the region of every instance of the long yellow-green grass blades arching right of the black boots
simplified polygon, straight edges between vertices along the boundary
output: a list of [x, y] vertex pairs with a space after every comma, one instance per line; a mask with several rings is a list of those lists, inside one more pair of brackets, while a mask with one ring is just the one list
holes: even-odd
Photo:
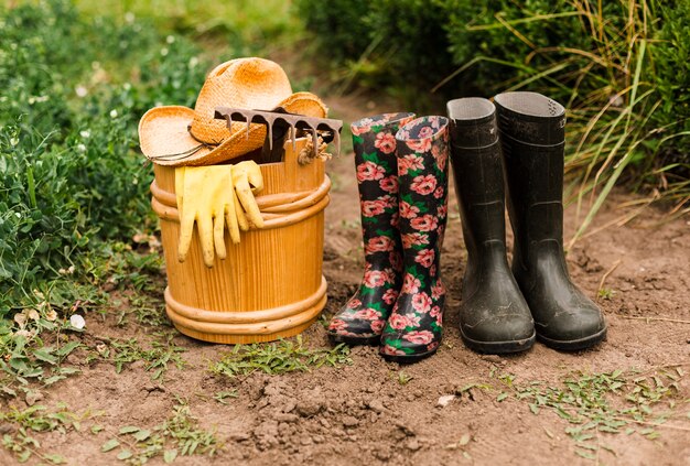
[[[497, 14], [496, 22], [470, 29], [505, 29], [530, 45], [524, 62], [500, 63], [520, 69], [502, 83], [502, 90], [539, 90], [569, 108], [567, 173], [572, 184], [565, 201], [575, 203], [579, 227], [568, 248], [591, 228], [615, 186], [642, 193], [638, 205], [664, 202], [673, 217], [690, 213], [690, 160], [682, 149], [690, 141], [690, 112], [684, 98], [673, 99], [675, 110], [669, 101], [679, 89], [688, 91], [690, 74], [667, 62], [670, 56], [690, 58], [680, 32], [690, 8], [672, 10], [661, 0], [562, 3], [567, 11], [560, 14], [576, 17], [582, 25], [576, 41], [535, 45], [520, 28], [529, 22], [546, 30], [554, 17], [527, 11], [515, 21]], [[616, 223], [640, 212], [628, 212]]]

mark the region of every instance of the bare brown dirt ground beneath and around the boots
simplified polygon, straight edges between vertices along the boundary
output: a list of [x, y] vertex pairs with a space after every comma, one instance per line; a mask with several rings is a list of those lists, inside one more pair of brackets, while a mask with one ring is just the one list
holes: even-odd
[[[360, 113], [347, 99], [334, 99], [330, 104], [334, 113], [346, 121]], [[332, 160], [328, 171], [334, 184], [332, 204], [326, 210], [324, 273], [330, 284], [326, 317], [355, 291], [363, 267], [352, 156], [345, 154]], [[590, 231], [623, 215], [626, 210], [617, 206], [626, 201], [630, 197], [624, 194], [610, 199]], [[465, 250], [454, 197], [450, 205], [442, 258], [449, 288], [445, 336], [432, 358], [401, 368], [384, 361], [376, 348], [364, 347], [352, 351], [352, 366], [339, 369], [321, 368], [285, 376], [255, 373], [244, 380], [228, 381], [207, 371], [208, 361], [217, 359], [227, 347], [180, 335], [175, 343], [186, 348], [183, 357], [188, 365], [184, 370], [172, 368], [164, 381], [157, 383], [140, 365], [116, 375], [112, 365], [86, 365], [85, 354], [77, 353], [71, 360], [80, 364], [83, 375], [45, 390], [42, 403], [54, 407], [66, 402], [75, 411], [103, 410], [105, 414], [97, 422], [107, 427], [106, 432], [93, 435], [85, 430], [34, 437], [46, 452], [64, 455], [69, 464], [121, 464], [115, 453], [100, 453], [108, 433], [130, 424], [154, 426], [170, 414], [175, 397], [182, 397], [204, 427], [217, 431], [225, 447], [213, 458], [179, 457], [175, 464], [181, 465], [547, 465], [557, 460], [592, 464], [575, 455], [574, 443], [564, 432], [569, 424], [553, 412], [542, 410], [533, 415], [525, 401], [514, 398], [496, 401], [500, 382], [492, 373], [513, 373], [520, 383], [535, 380], [557, 383], [574, 370], [654, 372], [681, 365], [690, 371], [690, 221], [682, 218], [658, 226], [662, 213], [647, 209], [623, 227], [607, 228], [575, 243], [568, 256], [569, 268], [573, 280], [589, 295], [596, 295], [602, 278], [613, 269], [604, 288], [614, 294], [600, 301], [608, 322], [606, 342], [575, 354], [536, 344], [525, 354], [496, 357], [466, 349], [459, 337]], [[571, 207], [565, 213], [567, 238], [575, 225]], [[133, 323], [116, 326], [115, 313], [105, 317], [90, 313], [86, 321], [84, 339], [89, 344], [103, 336], [134, 336], [142, 342], [150, 338], [147, 335], [150, 328]], [[311, 346], [328, 345], [319, 322], [304, 336]], [[411, 377], [406, 384], [398, 382], [401, 370]], [[438, 405], [440, 397], [460, 393], [470, 383], [493, 389], [475, 389], [472, 395], [465, 392], [443, 408]], [[228, 389], [237, 389], [239, 397], [227, 405], [213, 399], [214, 393]], [[689, 398], [690, 382], [684, 377], [677, 399]], [[23, 401], [18, 405], [25, 408]], [[654, 441], [639, 434], [602, 434], [602, 443], [614, 453], [601, 449], [599, 460], [617, 465], [690, 464], [688, 411], [688, 404], [680, 405], [682, 415], [669, 421], [676, 429], [658, 427], [660, 436]], [[85, 422], [85, 425], [89, 424]], [[465, 445], [451, 446], [457, 445], [463, 436], [466, 440], [466, 435], [470, 441]], [[14, 464], [14, 459], [0, 451], [0, 464]], [[162, 464], [162, 459], [155, 458], [150, 464]]]

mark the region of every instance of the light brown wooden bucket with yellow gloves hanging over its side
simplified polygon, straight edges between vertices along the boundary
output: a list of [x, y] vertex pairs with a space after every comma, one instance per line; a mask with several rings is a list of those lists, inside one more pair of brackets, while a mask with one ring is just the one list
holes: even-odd
[[262, 164], [257, 204], [266, 226], [225, 235], [227, 258], [204, 265], [196, 236], [185, 262], [177, 260], [180, 217], [175, 169], [154, 164], [151, 205], [161, 220], [168, 273], [165, 311], [191, 337], [227, 344], [270, 342], [309, 327], [326, 304], [322, 275], [324, 209], [331, 181], [324, 162], [300, 165], [305, 140], [285, 144], [284, 162]]

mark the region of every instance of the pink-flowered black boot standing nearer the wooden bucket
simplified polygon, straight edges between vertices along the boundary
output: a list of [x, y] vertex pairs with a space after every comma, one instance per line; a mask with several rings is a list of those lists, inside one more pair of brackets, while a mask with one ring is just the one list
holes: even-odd
[[378, 345], [402, 283], [398, 230], [396, 131], [413, 113], [384, 113], [351, 124], [364, 238], [365, 270], [357, 292], [331, 318], [328, 337], [347, 345]]

